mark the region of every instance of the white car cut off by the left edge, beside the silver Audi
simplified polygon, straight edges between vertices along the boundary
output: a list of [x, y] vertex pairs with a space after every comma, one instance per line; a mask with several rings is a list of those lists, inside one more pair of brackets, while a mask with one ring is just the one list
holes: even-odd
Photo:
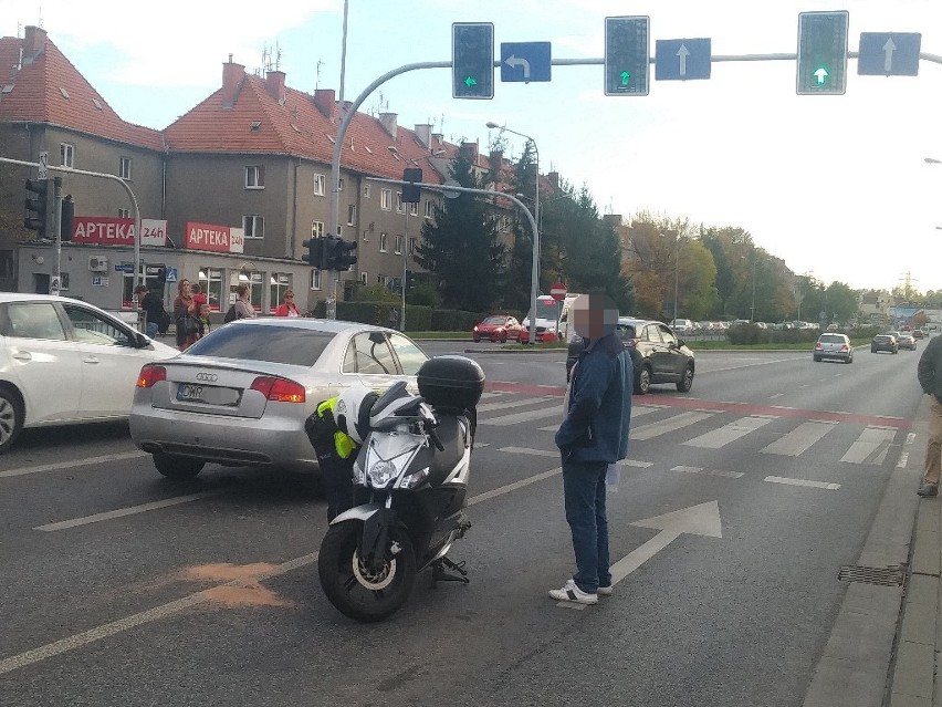
[[0, 292], [0, 454], [24, 427], [127, 418], [142, 366], [178, 353], [86, 302]]

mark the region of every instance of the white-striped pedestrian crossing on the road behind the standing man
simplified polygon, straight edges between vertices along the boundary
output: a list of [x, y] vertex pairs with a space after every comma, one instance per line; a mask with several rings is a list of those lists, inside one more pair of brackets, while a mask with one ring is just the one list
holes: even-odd
[[[555, 433], [563, 418], [558, 396], [528, 396], [489, 392], [478, 407], [482, 428], [524, 425], [524, 441], [534, 445], [536, 433]], [[682, 402], [682, 404], [681, 404]], [[723, 408], [725, 406], [725, 408]], [[742, 408], [754, 409], [752, 406]], [[743, 410], [745, 412], [745, 410]], [[706, 401], [680, 398], [669, 404], [635, 403], [631, 408], [631, 441], [669, 438], [682, 447], [722, 449], [734, 443], [757, 438], [757, 454], [797, 458], [813, 455], [815, 448], [828, 449], [828, 456], [848, 465], [881, 466], [891, 451], [899, 453], [909, 423], [900, 418], [864, 418], [849, 413], [815, 413], [807, 416], [794, 408], [766, 407], [743, 415], [735, 404], [712, 405]], [[551, 424], [545, 424], [548, 422]], [[868, 422], [869, 420], [869, 422]], [[544, 423], [533, 430], [527, 423]], [[886, 424], [881, 424], [886, 422]], [[482, 429], [482, 432], [484, 432]], [[486, 433], [484, 433], [486, 436]], [[898, 436], [901, 438], [898, 440]], [[910, 435], [911, 436], [911, 435]], [[825, 445], [824, 447], [821, 445]], [[513, 447], [524, 454], [524, 447]], [[835, 449], [838, 451], [835, 454]], [[534, 454], [534, 451], [525, 453]], [[546, 456], [556, 456], [552, 449]], [[688, 470], [684, 468], [683, 470]]]

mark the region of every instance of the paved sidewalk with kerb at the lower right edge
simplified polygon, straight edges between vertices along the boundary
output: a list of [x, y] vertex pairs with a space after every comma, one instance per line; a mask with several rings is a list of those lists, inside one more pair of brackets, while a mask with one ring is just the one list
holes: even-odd
[[942, 707], [942, 499], [915, 495], [928, 410], [923, 396], [864, 551], [842, 569], [849, 586], [805, 707]]

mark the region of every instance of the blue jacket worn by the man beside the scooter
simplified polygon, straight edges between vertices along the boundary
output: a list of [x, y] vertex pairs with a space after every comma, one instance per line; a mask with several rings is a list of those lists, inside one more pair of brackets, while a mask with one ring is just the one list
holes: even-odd
[[634, 374], [631, 356], [615, 334], [596, 339], [583, 350], [566, 418], [556, 433], [564, 460], [614, 464], [628, 455]]

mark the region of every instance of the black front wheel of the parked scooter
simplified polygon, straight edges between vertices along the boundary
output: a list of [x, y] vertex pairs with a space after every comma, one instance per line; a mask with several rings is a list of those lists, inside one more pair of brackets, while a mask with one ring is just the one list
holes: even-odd
[[363, 522], [348, 520], [331, 526], [321, 542], [317, 573], [327, 600], [342, 614], [365, 623], [383, 621], [409, 599], [416, 581], [416, 555], [404, 532], [390, 532], [389, 544], [398, 548], [379, 570], [360, 559], [357, 541]]

